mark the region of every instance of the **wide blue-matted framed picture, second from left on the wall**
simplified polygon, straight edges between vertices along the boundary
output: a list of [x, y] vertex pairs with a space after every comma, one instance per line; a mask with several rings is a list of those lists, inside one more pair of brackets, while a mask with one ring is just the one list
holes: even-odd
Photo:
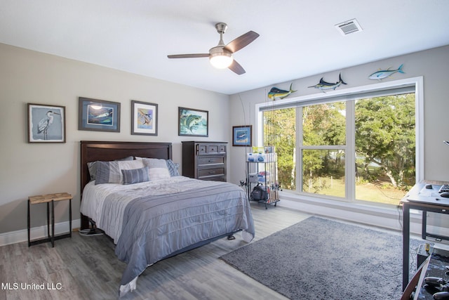
[[78, 130], [120, 132], [120, 103], [79, 97]]

